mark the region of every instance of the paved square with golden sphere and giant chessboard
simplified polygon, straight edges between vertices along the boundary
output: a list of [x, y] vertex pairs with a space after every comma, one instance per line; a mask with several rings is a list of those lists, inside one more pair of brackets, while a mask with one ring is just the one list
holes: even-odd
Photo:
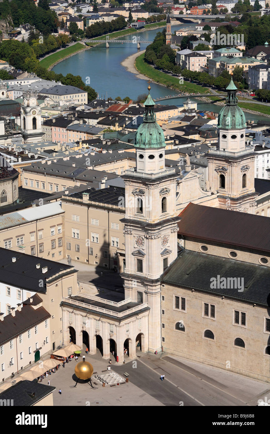
[[[86, 355], [86, 361], [93, 365], [98, 375], [107, 374], [102, 372], [108, 364], [100, 353]], [[55, 406], [254, 406], [258, 399], [270, 399], [268, 383], [165, 353], [140, 353], [134, 360], [127, 358], [124, 365], [117, 365], [113, 360], [111, 369], [114, 372], [123, 378], [124, 372], [129, 374], [128, 383], [113, 387], [102, 387], [94, 375], [94, 388], [79, 382], [74, 387], [75, 365], [73, 359], [65, 364], [65, 368], [61, 365], [49, 376], [51, 385], [55, 386]], [[164, 381], [160, 380], [161, 374], [165, 375]], [[47, 383], [46, 380], [43, 382]], [[62, 395], [58, 393], [59, 388]]]

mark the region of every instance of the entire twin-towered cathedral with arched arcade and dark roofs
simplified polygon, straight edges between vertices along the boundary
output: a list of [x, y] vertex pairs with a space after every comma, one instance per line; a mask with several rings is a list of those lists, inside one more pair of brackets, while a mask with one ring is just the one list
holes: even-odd
[[231, 79], [218, 150], [207, 156], [207, 191], [189, 158], [185, 173], [165, 167], [148, 89], [136, 167], [123, 175], [125, 299], [81, 292], [63, 299], [63, 341], [71, 336], [104, 359], [115, 351], [119, 363], [124, 347], [130, 358], [167, 351], [270, 381], [270, 220], [254, 215], [254, 152], [245, 146], [236, 88]]

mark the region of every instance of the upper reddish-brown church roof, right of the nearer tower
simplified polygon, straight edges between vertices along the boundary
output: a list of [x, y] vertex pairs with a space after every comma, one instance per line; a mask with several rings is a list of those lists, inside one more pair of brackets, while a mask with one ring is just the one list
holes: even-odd
[[179, 233], [185, 237], [270, 251], [269, 217], [192, 203], [179, 215]]

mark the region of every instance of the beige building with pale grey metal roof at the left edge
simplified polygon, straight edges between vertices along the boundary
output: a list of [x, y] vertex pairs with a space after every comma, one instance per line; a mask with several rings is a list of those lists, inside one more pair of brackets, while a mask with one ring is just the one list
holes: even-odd
[[65, 223], [59, 202], [0, 216], [0, 246], [39, 258], [62, 260]]

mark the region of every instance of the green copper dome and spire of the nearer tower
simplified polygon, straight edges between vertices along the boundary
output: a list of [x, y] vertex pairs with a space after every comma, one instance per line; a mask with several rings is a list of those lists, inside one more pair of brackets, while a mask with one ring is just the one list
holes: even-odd
[[154, 113], [153, 99], [150, 95], [150, 86], [148, 86], [149, 95], [146, 99], [145, 113], [143, 115], [143, 123], [137, 129], [135, 136], [135, 148], [163, 148], [165, 147], [165, 137], [162, 128], [156, 123], [156, 115]]

